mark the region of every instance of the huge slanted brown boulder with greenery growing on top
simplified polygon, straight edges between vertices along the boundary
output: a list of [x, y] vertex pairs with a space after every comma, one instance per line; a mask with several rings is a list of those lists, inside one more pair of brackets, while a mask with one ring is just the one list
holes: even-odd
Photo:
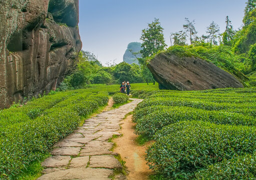
[[148, 63], [160, 89], [203, 90], [243, 87], [233, 75], [213, 63], [194, 56], [159, 53]]

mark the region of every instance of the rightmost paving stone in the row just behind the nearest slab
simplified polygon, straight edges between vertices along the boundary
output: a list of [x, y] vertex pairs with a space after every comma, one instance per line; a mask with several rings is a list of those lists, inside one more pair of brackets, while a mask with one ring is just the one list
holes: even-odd
[[122, 169], [121, 163], [113, 155], [95, 155], [91, 156], [90, 167], [103, 167], [110, 169]]

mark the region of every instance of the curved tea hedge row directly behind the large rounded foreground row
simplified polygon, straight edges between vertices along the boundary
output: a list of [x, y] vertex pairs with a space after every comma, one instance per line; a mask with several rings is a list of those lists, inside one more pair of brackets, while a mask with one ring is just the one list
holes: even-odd
[[183, 106], [165, 108], [160, 106], [160, 109], [151, 109], [154, 111], [136, 120], [136, 134], [152, 137], [164, 126], [183, 120], [201, 120], [216, 124], [256, 125], [254, 117], [228, 111], [209, 111]]

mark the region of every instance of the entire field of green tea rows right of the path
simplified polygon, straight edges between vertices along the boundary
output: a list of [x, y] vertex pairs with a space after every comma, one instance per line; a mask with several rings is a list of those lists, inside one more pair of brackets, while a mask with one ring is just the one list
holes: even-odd
[[256, 179], [256, 88], [137, 93], [152, 94], [133, 120], [159, 179]]

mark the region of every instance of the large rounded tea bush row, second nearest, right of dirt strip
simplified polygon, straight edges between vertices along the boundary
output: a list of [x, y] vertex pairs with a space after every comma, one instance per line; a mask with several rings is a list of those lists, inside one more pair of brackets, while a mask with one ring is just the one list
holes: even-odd
[[170, 179], [191, 178], [210, 164], [256, 149], [256, 129], [248, 126], [182, 121], [165, 126], [155, 137], [146, 160]]

